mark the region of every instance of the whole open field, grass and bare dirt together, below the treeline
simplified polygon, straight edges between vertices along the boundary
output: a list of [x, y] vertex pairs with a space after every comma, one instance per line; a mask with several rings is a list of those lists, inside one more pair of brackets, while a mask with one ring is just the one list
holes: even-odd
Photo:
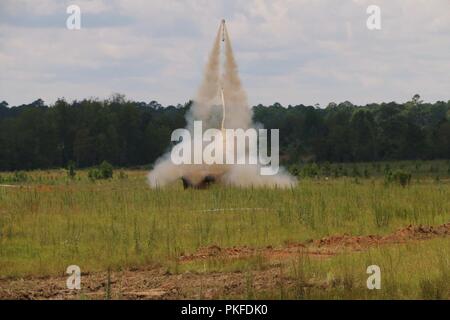
[[287, 190], [1, 173], [0, 298], [449, 299], [450, 180], [417, 167], [406, 187], [373, 174]]

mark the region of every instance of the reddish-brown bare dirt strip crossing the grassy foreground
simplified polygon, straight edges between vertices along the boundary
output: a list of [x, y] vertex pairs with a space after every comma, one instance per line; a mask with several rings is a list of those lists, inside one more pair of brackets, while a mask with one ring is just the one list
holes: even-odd
[[[179, 263], [261, 256], [268, 263], [266, 267], [251, 272], [252, 287], [258, 292], [270, 291], [296, 285], [294, 279], [283, 273], [283, 265], [301, 255], [326, 258], [345, 251], [447, 236], [450, 236], [450, 223], [434, 227], [408, 226], [386, 236], [336, 235], [306, 243], [287, 243], [278, 248], [209, 246], [180, 257]], [[109, 275], [106, 272], [83, 273], [81, 290], [67, 289], [66, 279], [67, 275], [0, 279], [0, 299], [214, 299], [242, 296], [248, 292], [249, 275], [245, 272], [171, 274], [165, 268], [153, 266], [111, 272]], [[313, 281], [302, 284], [323, 288], [328, 285]]]

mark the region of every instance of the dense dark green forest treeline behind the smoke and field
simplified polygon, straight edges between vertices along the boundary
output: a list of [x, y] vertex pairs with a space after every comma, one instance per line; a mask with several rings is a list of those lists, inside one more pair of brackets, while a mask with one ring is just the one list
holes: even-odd
[[[152, 164], [185, 126], [192, 102], [163, 107], [114, 95], [101, 101], [42, 100], [10, 107], [0, 103], [0, 170], [79, 167], [106, 160], [116, 166]], [[450, 159], [450, 101], [424, 103], [419, 95], [355, 106], [253, 107], [265, 128], [280, 129], [282, 162], [360, 162]]]

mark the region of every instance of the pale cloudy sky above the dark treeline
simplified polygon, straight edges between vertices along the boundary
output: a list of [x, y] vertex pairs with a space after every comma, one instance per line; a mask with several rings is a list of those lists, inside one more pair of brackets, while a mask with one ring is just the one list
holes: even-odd
[[251, 105], [450, 99], [449, 0], [0, 0], [0, 101], [184, 103], [222, 18]]

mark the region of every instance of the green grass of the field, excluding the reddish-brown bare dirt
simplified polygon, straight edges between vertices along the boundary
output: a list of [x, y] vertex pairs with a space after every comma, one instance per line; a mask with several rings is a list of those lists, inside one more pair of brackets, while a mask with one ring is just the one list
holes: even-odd
[[[1, 175], [5, 180], [10, 174]], [[303, 179], [296, 188], [284, 190], [183, 190], [181, 183], [151, 190], [143, 171], [97, 182], [90, 182], [84, 171], [73, 181], [62, 170], [27, 175], [27, 182], [19, 183], [22, 188], [0, 187], [0, 277], [61, 275], [71, 264], [83, 272], [148, 264], [174, 268], [180, 255], [212, 244], [279, 246], [330, 234], [387, 234], [409, 224], [450, 221], [450, 181], [417, 181], [414, 175], [408, 187], [386, 185], [382, 178], [330, 178]], [[436, 239], [420, 246], [351, 253], [309, 261], [302, 272], [321, 278], [332, 272], [350, 279], [342, 283], [360, 284], [372, 258], [383, 266], [391, 259], [393, 264], [382, 269], [386, 277], [389, 270], [396, 273], [397, 287], [386, 284], [389, 290], [372, 293], [356, 286], [349, 296], [338, 287], [325, 291], [327, 297], [439, 297], [435, 291], [446, 289], [439, 289], [443, 268], [450, 273], [449, 247], [448, 240]], [[251, 271], [264, 261], [233, 264], [215, 263], [207, 270]], [[409, 279], [413, 281], [406, 284]], [[322, 297], [313, 289], [283, 295]]]

